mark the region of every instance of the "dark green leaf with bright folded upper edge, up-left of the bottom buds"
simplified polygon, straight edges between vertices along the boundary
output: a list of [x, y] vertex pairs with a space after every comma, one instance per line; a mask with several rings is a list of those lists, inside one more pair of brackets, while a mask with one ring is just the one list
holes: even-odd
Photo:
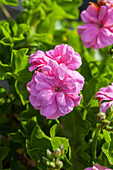
[[32, 148], [37, 148], [38, 150], [44, 153], [46, 153], [47, 149], [52, 149], [50, 138], [45, 135], [39, 125], [36, 125], [31, 134], [31, 145]]

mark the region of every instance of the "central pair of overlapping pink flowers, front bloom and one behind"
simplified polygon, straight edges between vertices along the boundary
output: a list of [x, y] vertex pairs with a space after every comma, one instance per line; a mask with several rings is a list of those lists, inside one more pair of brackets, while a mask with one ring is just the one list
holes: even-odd
[[81, 57], [72, 47], [62, 44], [45, 53], [37, 51], [29, 63], [30, 71], [37, 68], [27, 84], [29, 100], [42, 115], [56, 119], [79, 105], [84, 77], [74, 71], [81, 65]]

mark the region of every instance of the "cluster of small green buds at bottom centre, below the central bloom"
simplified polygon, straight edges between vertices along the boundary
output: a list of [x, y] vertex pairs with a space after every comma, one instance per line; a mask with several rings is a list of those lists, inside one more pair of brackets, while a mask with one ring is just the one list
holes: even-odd
[[63, 162], [60, 160], [64, 154], [64, 145], [61, 145], [53, 153], [47, 149], [47, 158], [43, 157], [47, 165], [47, 170], [60, 170], [63, 167]]

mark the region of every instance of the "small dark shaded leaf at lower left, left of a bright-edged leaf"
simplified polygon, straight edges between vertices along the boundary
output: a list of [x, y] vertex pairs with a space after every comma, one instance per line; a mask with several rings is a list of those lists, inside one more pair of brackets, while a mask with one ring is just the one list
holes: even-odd
[[24, 143], [25, 142], [25, 136], [22, 133], [22, 131], [19, 129], [16, 133], [10, 133], [8, 135], [14, 142], [17, 143]]

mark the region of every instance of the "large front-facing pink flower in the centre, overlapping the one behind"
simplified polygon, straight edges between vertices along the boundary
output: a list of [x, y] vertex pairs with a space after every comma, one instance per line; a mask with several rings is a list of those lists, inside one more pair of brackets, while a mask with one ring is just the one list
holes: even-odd
[[40, 110], [47, 119], [56, 119], [79, 105], [83, 85], [84, 78], [80, 73], [67, 69], [65, 64], [50, 60], [42, 72], [35, 71], [27, 89], [34, 108]]

